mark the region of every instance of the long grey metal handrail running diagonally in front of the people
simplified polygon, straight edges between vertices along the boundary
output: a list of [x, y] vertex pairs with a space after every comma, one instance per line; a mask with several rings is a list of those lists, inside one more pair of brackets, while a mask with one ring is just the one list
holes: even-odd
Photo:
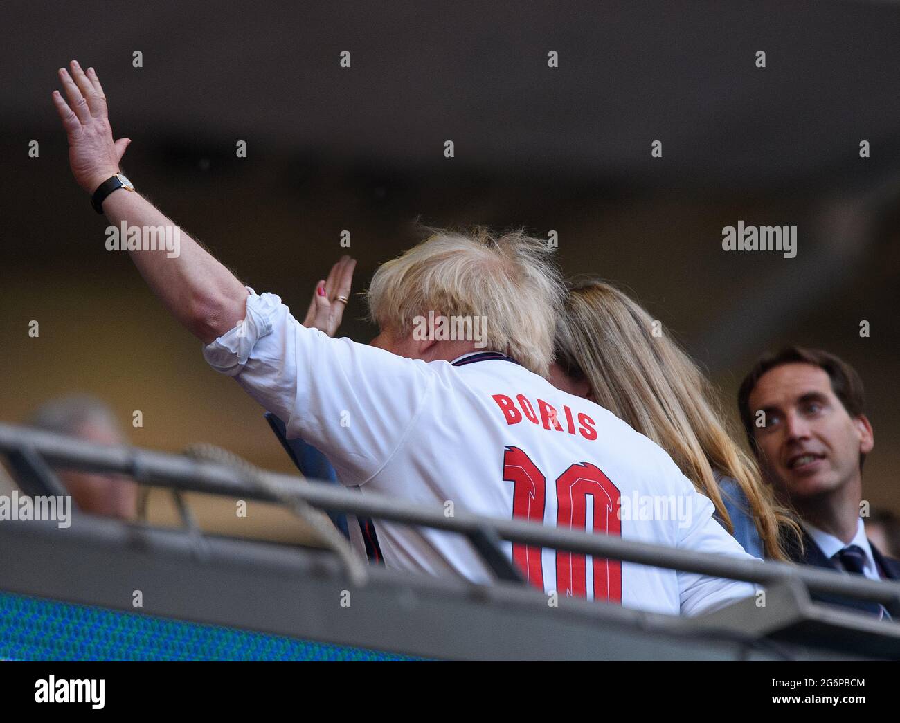
[[735, 559], [584, 531], [545, 527], [534, 522], [495, 519], [464, 511], [456, 511], [453, 516], [447, 517], [443, 507], [432, 509], [376, 493], [359, 495], [338, 486], [308, 484], [308, 480], [293, 475], [268, 471], [260, 472], [266, 479], [266, 489], [253, 485], [240, 469], [220, 463], [137, 447], [106, 446], [13, 424], [0, 424], [0, 451], [20, 458], [40, 460], [41, 464], [48, 466], [127, 475], [139, 483], [154, 486], [267, 502], [282, 502], [286, 497], [296, 497], [322, 510], [457, 532], [473, 541], [473, 546], [495, 574], [508, 580], [512, 579], [510, 564], [505, 557], [503, 561], [498, 560], [498, 540], [743, 580], [757, 585], [799, 584], [809, 593], [878, 602], [892, 615], [900, 615], [900, 583], [879, 582], [862, 576], [843, 575], [838, 571]]

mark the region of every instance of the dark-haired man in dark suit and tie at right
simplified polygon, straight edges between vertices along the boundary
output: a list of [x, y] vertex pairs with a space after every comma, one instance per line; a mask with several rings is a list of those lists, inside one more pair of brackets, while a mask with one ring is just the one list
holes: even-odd
[[[804, 549], [793, 550], [795, 561], [900, 579], [900, 560], [869, 542], [860, 517], [862, 466], [875, 439], [856, 370], [834, 354], [788, 347], [756, 363], [738, 407], [763, 474], [803, 524]], [[813, 597], [885, 614], [874, 602]]]

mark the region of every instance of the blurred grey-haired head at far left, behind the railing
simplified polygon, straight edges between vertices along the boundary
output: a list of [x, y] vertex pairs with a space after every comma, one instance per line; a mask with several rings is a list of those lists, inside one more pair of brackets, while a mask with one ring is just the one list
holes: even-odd
[[[29, 424], [87, 442], [126, 442], [110, 407], [88, 395], [52, 399], [31, 415]], [[83, 512], [126, 519], [136, 513], [137, 486], [125, 478], [71, 469], [60, 471], [59, 478]]]

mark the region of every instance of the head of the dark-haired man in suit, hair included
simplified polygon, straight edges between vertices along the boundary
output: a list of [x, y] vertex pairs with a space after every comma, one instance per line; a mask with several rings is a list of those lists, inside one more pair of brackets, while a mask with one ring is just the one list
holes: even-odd
[[794, 504], [860, 484], [874, 436], [860, 375], [839, 357], [799, 346], [763, 356], [738, 408], [766, 476]]

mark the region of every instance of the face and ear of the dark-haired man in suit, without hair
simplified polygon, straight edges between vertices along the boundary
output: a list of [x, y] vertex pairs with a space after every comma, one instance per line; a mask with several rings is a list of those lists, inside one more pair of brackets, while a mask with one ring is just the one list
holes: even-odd
[[748, 402], [763, 471], [790, 499], [833, 492], [860, 474], [872, 428], [865, 416], [848, 414], [825, 370], [782, 364], [761, 376]]

